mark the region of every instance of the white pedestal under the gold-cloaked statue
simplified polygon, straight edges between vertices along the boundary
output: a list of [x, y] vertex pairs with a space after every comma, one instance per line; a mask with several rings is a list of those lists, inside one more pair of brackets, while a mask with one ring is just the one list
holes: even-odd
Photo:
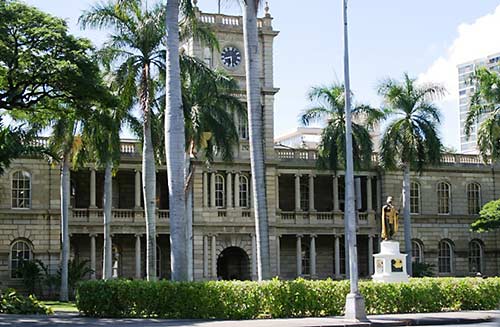
[[374, 282], [398, 283], [408, 282], [406, 273], [406, 254], [399, 252], [399, 242], [382, 241], [380, 253], [374, 254], [375, 274]]

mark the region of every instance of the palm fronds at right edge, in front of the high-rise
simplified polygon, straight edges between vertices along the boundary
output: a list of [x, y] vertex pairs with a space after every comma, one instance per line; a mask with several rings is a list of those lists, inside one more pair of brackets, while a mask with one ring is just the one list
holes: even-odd
[[472, 95], [470, 110], [465, 120], [465, 134], [470, 137], [474, 126], [477, 146], [484, 162], [500, 160], [500, 77], [486, 68], [476, 71], [473, 81], [477, 89]]

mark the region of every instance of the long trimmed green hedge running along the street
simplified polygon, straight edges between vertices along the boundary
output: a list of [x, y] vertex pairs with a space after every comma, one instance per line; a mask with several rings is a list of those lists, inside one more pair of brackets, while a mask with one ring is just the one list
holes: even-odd
[[[500, 278], [419, 278], [360, 282], [370, 314], [491, 310]], [[76, 305], [93, 317], [251, 319], [343, 314], [348, 281], [147, 282], [94, 280], [77, 287]]]

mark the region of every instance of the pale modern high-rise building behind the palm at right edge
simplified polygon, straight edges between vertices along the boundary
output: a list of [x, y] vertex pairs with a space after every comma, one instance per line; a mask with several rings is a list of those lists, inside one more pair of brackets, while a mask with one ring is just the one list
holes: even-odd
[[460, 108], [460, 151], [462, 153], [477, 153], [477, 129], [481, 123], [472, 127], [469, 138], [465, 135], [465, 119], [469, 111], [470, 100], [475, 91], [475, 85], [471, 81], [472, 74], [477, 68], [487, 67], [490, 70], [500, 71], [500, 53], [490, 55], [488, 57], [476, 59], [458, 65], [458, 96]]

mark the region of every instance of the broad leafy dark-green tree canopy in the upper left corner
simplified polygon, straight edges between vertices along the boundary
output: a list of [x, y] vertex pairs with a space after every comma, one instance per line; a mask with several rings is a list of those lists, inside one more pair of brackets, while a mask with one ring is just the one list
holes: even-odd
[[1, 0], [0, 12], [0, 109], [102, 92], [90, 41], [69, 35], [63, 19], [13, 0]]

